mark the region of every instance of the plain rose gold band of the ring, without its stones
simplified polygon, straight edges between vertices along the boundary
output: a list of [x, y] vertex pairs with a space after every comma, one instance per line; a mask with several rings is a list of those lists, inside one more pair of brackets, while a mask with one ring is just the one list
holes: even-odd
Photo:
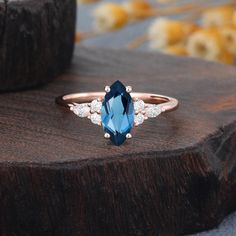
[[[99, 98], [103, 99], [105, 94], [105, 92], [72, 93], [57, 97], [56, 103], [69, 108], [69, 104], [72, 103], [86, 103]], [[178, 100], [172, 97], [150, 93], [130, 93], [130, 95], [132, 98], [141, 99], [146, 103], [160, 104], [163, 112], [173, 111], [178, 107]]]

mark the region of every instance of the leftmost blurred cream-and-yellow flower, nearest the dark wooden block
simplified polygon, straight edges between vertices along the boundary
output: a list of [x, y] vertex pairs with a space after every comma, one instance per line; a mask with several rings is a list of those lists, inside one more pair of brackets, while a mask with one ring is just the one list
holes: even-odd
[[98, 6], [93, 16], [94, 26], [98, 32], [112, 31], [122, 28], [128, 22], [128, 14], [116, 3], [103, 3]]

